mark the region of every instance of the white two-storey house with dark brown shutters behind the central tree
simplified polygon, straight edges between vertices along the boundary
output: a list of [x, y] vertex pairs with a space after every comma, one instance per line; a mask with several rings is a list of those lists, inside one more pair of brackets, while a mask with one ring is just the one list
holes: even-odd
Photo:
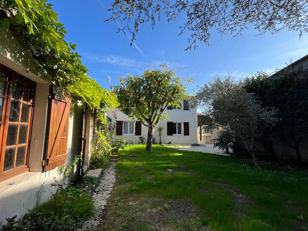
[[[154, 130], [154, 137], [159, 142], [159, 133], [157, 128], [163, 127], [161, 132], [161, 142], [167, 144], [190, 144], [198, 143], [197, 140], [197, 109], [189, 108], [188, 101], [182, 100], [181, 107], [171, 106], [164, 110], [170, 116], [167, 121], [160, 120]], [[112, 118], [113, 113], [116, 114], [116, 120], [112, 123], [116, 124], [116, 135], [114, 140], [123, 139], [128, 142], [138, 143], [139, 137], [143, 136], [147, 139], [148, 128], [140, 123], [140, 121], [128, 118], [127, 115], [120, 112], [119, 109], [108, 111], [108, 115]]]

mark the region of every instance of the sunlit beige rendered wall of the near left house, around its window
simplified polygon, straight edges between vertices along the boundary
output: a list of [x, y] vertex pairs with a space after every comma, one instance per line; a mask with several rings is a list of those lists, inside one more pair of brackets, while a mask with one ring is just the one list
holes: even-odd
[[[0, 29], [0, 63], [37, 83], [29, 153], [30, 171], [0, 183], [1, 227], [6, 224], [6, 217], [13, 217], [14, 215], [21, 217], [28, 209], [33, 209], [46, 201], [51, 196], [49, 190], [53, 190], [50, 186], [54, 182], [53, 178], [56, 177], [62, 182], [63, 177], [59, 176], [57, 168], [43, 172], [41, 166], [42, 160], [45, 159], [48, 132], [49, 84], [42, 79], [45, 74], [39, 71], [37, 62], [32, 59], [31, 54], [9, 30]], [[71, 108], [67, 163], [81, 152], [83, 127], [81, 104], [74, 105]], [[78, 172], [79, 169], [74, 168], [74, 175]]]

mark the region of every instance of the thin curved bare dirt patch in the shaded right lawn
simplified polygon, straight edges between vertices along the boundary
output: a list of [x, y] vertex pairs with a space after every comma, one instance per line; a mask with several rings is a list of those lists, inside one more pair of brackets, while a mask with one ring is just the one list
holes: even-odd
[[206, 179], [204, 179], [204, 181], [212, 184], [218, 184], [221, 187], [228, 189], [229, 193], [231, 193], [233, 196], [233, 204], [237, 208], [236, 213], [241, 216], [245, 214], [246, 209], [249, 207], [249, 204], [252, 201], [251, 197], [237, 191], [236, 189], [233, 188], [231, 184], [217, 183], [212, 180], [206, 180]]

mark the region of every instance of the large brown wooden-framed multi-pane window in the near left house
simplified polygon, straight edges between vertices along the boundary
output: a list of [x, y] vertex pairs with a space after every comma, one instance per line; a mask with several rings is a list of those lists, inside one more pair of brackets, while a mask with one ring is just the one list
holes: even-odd
[[0, 67], [0, 182], [28, 170], [35, 83]]

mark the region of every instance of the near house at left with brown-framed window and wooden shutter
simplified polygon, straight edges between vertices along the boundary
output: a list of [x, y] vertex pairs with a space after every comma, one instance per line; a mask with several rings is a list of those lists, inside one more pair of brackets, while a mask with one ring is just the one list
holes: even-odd
[[0, 226], [51, 196], [54, 177], [63, 182], [58, 166], [83, 152], [85, 171], [91, 155], [91, 111], [71, 107], [37, 67], [19, 38], [0, 29]]

